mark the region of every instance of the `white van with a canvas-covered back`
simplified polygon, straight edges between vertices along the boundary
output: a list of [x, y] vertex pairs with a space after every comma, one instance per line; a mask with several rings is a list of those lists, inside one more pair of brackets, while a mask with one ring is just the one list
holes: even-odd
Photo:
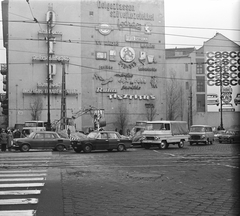
[[148, 121], [142, 136], [145, 149], [151, 146], [166, 149], [170, 144], [183, 148], [189, 137], [188, 125], [185, 121]]

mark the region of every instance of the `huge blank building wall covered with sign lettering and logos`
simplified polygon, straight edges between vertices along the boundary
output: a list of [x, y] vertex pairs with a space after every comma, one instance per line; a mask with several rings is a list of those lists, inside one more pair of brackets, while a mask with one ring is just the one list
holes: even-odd
[[[165, 118], [164, 2], [16, 1], [3, 6], [8, 124], [51, 122], [86, 107], [106, 129], [124, 111], [128, 125]], [[152, 107], [151, 106], [151, 107]], [[93, 126], [87, 113], [79, 130]]]

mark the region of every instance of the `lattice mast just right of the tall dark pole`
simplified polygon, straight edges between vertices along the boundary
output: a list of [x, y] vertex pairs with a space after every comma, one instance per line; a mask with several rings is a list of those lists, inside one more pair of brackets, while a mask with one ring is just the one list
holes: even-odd
[[66, 129], [66, 72], [64, 61], [62, 61], [61, 119], [62, 119], [61, 129]]

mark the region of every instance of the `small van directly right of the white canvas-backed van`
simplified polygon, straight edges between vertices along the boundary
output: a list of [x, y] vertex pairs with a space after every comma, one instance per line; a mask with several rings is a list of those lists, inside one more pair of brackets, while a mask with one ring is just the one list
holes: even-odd
[[189, 132], [189, 144], [213, 144], [214, 133], [209, 125], [192, 125]]

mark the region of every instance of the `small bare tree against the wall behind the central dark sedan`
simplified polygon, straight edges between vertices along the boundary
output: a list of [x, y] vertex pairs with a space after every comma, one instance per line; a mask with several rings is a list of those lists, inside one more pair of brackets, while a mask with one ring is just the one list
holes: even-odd
[[118, 107], [118, 113], [116, 114], [116, 126], [119, 128], [119, 131], [124, 133], [128, 125], [128, 110], [124, 104], [120, 104]]

